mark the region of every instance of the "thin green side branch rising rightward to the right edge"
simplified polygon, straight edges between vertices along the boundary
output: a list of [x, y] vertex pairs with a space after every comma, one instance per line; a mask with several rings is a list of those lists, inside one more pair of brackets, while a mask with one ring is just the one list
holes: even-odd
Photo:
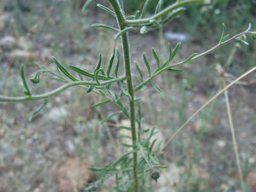
[[215, 45], [215, 46], [212, 47], [211, 49], [209, 49], [209, 50], [207, 50], [207, 51], [205, 51], [205, 52], [203, 52], [203, 53], [201, 53], [201, 54], [196, 55], [195, 57], [193, 57], [193, 58], [190, 59], [189, 61], [187, 61], [187, 59], [186, 59], [186, 60], [184, 60], [184, 61], [175, 63], [174, 65], [165, 67], [165, 68], [163, 68], [163, 69], [157, 71], [157, 72], [154, 73], [153, 75], [151, 75], [151, 76], [150, 76], [148, 79], [146, 79], [144, 82], [142, 82], [142, 83], [140, 83], [139, 85], [137, 85], [137, 86], [134, 88], [134, 92], [139, 91], [143, 86], [145, 86], [145, 85], [147, 85], [148, 83], [150, 83], [150, 81], [151, 81], [153, 78], [155, 78], [157, 75], [163, 73], [163, 71], [165, 71], [165, 70], [167, 70], [167, 69], [171, 69], [171, 68], [173, 68], [173, 67], [178, 67], [178, 66], [184, 65], [184, 64], [186, 64], [186, 63], [188, 63], [188, 62], [190, 62], [190, 61], [194, 61], [194, 60], [196, 60], [196, 59], [198, 59], [198, 58], [203, 57], [203, 56], [206, 55], [206, 54], [209, 54], [209, 53], [211, 53], [211, 52], [213, 52], [213, 51], [219, 49], [221, 46], [226, 45], [226, 44], [228, 44], [228, 43], [234, 41], [236, 38], [240, 37], [241, 35], [253, 34], [253, 33], [255, 33], [255, 31], [243, 31], [242, 33], [239, 33], [239, 34], [237, 34], [237, 35], [235, 35], [235, 36], [233, 36], [233, 37], [230, 37], [229, 39], [227, 39], [226, 41], [224, 41], [224, 42], [222, 42], [222, 43], [218, 43], [217, 45]]

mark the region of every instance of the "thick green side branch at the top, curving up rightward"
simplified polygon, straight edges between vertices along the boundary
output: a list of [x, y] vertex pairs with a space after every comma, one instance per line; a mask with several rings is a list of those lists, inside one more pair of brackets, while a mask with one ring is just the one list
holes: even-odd
[[138, 23], [149, 23], [150, 20], [155, 20], [163, 17], [167, 13], [171, 12], [174, 9], [177, 9], [178, 7], [181, 7], [183, 5], [187, 5], [189, 3], [204, 3], [205, 0], [187, 0], [187, 1], [182, 1], [182, 2], [176, 2], [169, 7], [166, 7], [166, 9], [160, 11], [159, 13], [153, 15], [152, 17], [145, 18], [145, 19], [134, 19], [134, 20], [124, 20], [125, 25], [134, 25]]

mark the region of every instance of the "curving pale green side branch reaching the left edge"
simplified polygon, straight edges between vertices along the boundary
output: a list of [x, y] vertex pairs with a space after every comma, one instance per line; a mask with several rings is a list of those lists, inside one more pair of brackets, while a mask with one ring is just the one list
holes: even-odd
[[[127, 79], [127, 76], [122, 76], [118, 77], [115, 79], [111, 79], [109, 81], [105, 81], [100, 83], [100, 86], [107, 85], [109, 83], [114, 83], [117, 81], [123, 81], [124, 79]], [[37, 94], [37, 95], [31, 95], [31, 96], [26, 96], [26, 97], [5, 97], [3, 95], [0, 95], [0, 102], [21, 102], [21, 101], [29, 101], [29, 100], [40, 100], [40, 99], [46, 99], [50, 98], [55, 94], [58, 94], [66, 89], [68, 89], [71, 86], [76, 86], [76, 85], [99, 85], [97, 82], [91, 82], [91, 81], [76, 81], [76, 82], [70, 82], [67, 83], [58, 89], [55, 89], [51, 92], [44, 93], [44, 94]]]

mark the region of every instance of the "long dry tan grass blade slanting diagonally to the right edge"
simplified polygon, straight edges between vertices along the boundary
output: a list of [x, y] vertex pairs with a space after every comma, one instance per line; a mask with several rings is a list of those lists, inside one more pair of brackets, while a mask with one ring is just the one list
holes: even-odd
[[157, 155], [159, 155], [161, 153], [161, 151], [163, 151], [165, 149], [165, 147], [179, 134], [180, 131], [182, 131], [186, 125], [201, 111], [203, 110], [207, 105], [209, 105], [214, 99], [216, 99], [217, 97], [219, 97], [220, 94], [222, 94], [225, 90], [229, 89], [230, 86], [234, 85], [236, 82], [238, 82], [240, 79], [242, 79], [243, 77], [245, 77], [246, 75], [249, 75], [250, 73], [252, 73], [252, 71], [256, 70], [256, 67], [253, 67], [252, 69], [248, 70], [246, 73], [244, 73], [243, 75], [241, 75], [240, 77], [238, 77], [237, 79], [235, 79], [233, 82], [231, 82], [230, 84], [228, 84], [225, 88], [223, 88], [221, 91], [219, 91], [217, 94], [215, 94], [210, 100], [208, 100], [206, 103], [204, 103], [204, 105], [199, 108], [193, 115], [191, 115], [187, 121], [177, 130], [175, 131], [175, 133], [172, 135], [172, 137], [167, 140], [163, 146], [163, 148], [161, 150], [159, 150], [159, 153]]

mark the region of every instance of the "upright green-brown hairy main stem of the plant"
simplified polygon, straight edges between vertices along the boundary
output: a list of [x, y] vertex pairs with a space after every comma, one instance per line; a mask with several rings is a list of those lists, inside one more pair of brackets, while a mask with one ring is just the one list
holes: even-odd
[[[109, 0], [113, 9], [116, 13], [117, 21], [120, 30], [125, 28], [124, 26], [124, 13], [121, 5], [118, 0]], [[134, 105], [134, 91], [132, 86], [132, 73], [131, 73], [131, 62], [130, 62], [130, 47], [127, 33], [122, 35], [122, 44], [123, 44], [123, 54], [124, 54], [124, 65], [125, 65], [125, 75], [127, 76], [127, 90], [131, 95], [130, 100], [130, 121], [131, 121], [131, 130], [132, 130], [132, 142], [133, 149], [137, 149], [136, 146], [136, 129], [135, 129], [135, 105]], [[133, 176], [135, 181], [135, 191], [138, 191], [138, 178], [137, 178], [137, 152], [133, 153]]]

